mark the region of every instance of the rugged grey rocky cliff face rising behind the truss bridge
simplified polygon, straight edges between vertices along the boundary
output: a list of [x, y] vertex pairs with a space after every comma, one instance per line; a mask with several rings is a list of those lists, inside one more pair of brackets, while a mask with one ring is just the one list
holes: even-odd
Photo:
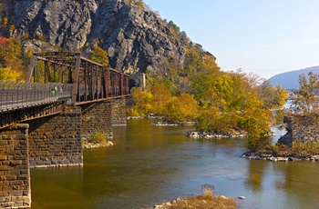
[[124, 0], [25, 0], [12, 7], [16, 34], [84, 55], [98, 44], [112, 67], [129, 74], [156, 73], [168, 60], [184, 63], [184, 44], [169, 27], [153, 12]]

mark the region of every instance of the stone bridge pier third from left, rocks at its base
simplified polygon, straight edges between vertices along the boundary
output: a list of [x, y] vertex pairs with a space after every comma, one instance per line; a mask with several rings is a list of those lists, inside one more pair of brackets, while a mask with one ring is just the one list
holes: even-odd
[[103, 132], [108, 138], [112, 137], [111, 105], [111, 100], [81, 105], [82, 137], [88, 139], [97, 131]]

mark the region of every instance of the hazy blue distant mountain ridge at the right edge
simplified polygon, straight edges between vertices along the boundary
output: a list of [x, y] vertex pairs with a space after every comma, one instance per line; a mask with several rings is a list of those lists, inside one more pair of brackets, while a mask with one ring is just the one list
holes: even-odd
[[272, 83], [273, 86], [282, 85], [284, 89], [297, 89], [299, 88], [299, 75], [307, 75], [310, 71], [313, 71], [314, 74], [319, 75], [319, 65], [274, 75], [268, 79], [268, 81]]

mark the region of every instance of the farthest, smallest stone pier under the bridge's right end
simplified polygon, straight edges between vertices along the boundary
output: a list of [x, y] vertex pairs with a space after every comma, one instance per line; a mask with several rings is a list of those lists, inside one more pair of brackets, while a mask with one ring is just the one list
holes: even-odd
[[112, 125], [127, 124], [126, 103], [126, 98], [116, 98], [111, 100]]

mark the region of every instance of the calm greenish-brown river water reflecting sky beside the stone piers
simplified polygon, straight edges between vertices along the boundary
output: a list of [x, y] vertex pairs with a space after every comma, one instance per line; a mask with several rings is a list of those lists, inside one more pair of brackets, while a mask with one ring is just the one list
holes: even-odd
[[31, 169], [32, 209], [149, 208], [203, 184], [239, 208], [319, 208], [318, 162], [247, 160], [246, 139], [192, 140], [191, 126], [151, 122], [114, 127], [115, 145], [84, 150], [83, 167]]

